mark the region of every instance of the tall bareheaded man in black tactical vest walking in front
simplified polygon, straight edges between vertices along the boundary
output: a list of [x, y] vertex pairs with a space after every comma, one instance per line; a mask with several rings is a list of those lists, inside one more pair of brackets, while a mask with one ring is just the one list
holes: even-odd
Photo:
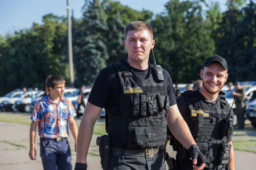
[[195, 169], [204, 168], [205, 156], [180, 115], [169, 73], [155, 62], [148, 63], [154, 44], [148, 23], [126, 26], [128, 61], [102, 69], [93, 84], [79, 127], [75, 170], [87, 169], [93, 127], [102, 108], [108, 133], [96, 142], [102, 169], [166, 170], [160, 146], [166, 142], [167, 123], [180, 143], [190, 148]]

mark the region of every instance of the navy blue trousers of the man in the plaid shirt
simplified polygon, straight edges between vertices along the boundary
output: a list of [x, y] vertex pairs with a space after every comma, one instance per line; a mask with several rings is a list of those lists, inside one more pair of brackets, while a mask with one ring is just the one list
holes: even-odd
[[40, 139], [40, 156], [44, 170], [72, 170], [72, 156], [67, 139], [57, 142]]

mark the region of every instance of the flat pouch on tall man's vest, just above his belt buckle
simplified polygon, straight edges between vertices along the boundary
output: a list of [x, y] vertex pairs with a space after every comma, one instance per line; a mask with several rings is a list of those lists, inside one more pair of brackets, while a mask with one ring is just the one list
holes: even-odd
[[150, 127], [135, 127], [135, 133], [136, 133], [136, 140], [137, 144], [140, 146], [145, 146], [148, 144], [149, 138], [150, 138]]

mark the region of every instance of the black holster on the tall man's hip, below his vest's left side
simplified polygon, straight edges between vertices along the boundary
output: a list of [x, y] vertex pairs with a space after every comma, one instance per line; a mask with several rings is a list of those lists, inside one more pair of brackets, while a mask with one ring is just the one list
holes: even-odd
[[109, 168], [110, 142], [108, 135], [97, 137], [96, 144], [99, 146], [100, 164], [103, 170]]

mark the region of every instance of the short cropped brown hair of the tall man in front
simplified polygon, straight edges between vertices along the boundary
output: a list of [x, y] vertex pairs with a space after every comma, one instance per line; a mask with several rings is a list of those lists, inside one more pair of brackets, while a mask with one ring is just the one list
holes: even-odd
[[126, 27], [125, 27], [125, 40], [128, 34], [128, 31], [143, 31], [146, 30], [149, 32], [149, 34], [152, 37], [153, 40], [153, 28], [148, 24], [145, 23], [144, 21], [134, 21], [129, 23]]

